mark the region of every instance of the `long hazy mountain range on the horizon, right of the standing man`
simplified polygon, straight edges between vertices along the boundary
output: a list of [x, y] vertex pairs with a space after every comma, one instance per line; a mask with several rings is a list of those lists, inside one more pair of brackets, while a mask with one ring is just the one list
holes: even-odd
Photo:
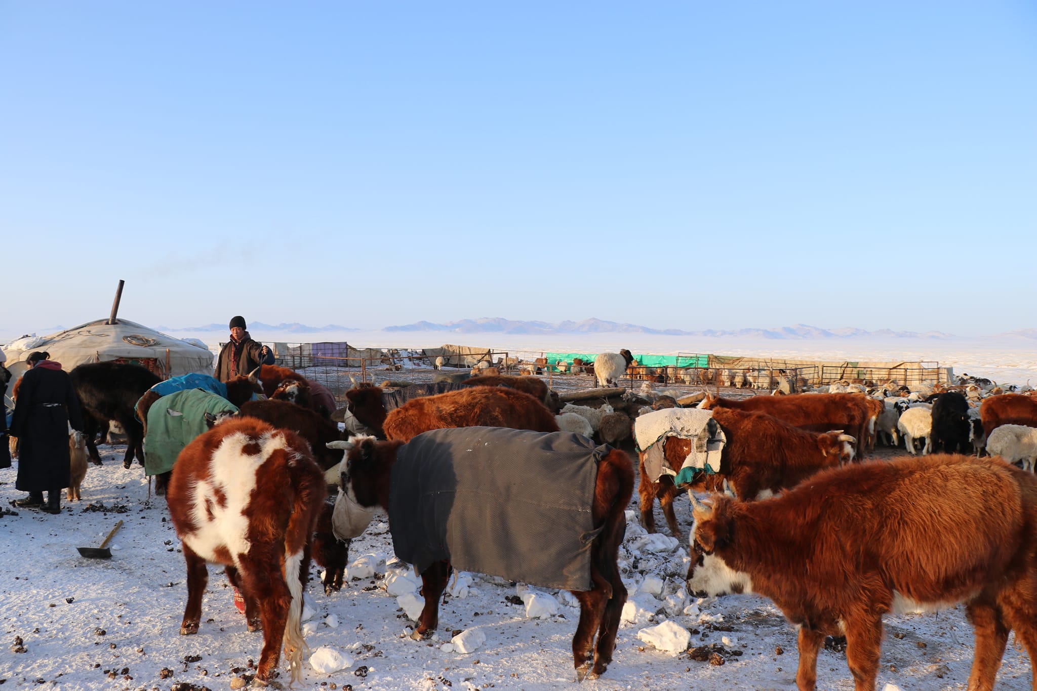
[[[551, 324], [544, 321], [514, 321], [510, 319], [483, 318], [463, 319], [438, 324], [430, 321], [418, 321], [400, 326], [386, 326], [385, 332], [449, 332], [453, 334], [660, 334], [664, 336], [701, 336], [718, 338], [753, 338], [776, 340], [803, 339], [851, 339], [861, 337], [906, 338], [906, 339], [954, 339], [952, 334], [943, 332], [895, 332], [882, 328], [875, 332], [863, 328], [819, 328], [807, 324], [782, 326], [778, 328], [738, 328], [731, 330], [706, 329], [703, 332], [684, 332], [677, 328], [649, 328], [637, 324], [617, 323], [602, 319], [584, 319], [583, 321], [562, 321]], [[1034, 332], [1037, 338], [1037, 329]]]

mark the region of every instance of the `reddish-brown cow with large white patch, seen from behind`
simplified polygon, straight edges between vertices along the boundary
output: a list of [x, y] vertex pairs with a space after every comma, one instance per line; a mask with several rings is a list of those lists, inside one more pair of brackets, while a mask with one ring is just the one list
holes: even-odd
[[262, 628], [256, 683], [276, 675], [282, 640], [291, 680], [300, 681], [305, 546], [325, 498], [306, 441], [258, 420], [226, 422], [184, 449], [166, 498], [188, 570], [180, 634], [198, 633], [205, 564], [221, 564], [245, 599], [249, 630]]

